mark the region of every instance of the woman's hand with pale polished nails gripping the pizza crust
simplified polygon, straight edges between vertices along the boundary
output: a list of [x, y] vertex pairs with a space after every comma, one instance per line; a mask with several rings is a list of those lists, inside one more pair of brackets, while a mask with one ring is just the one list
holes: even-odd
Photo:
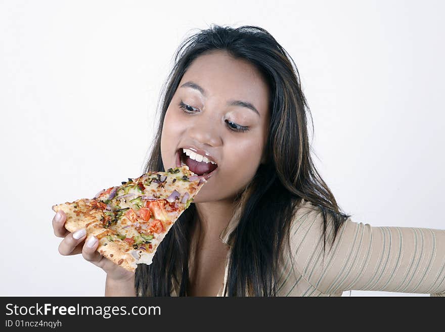
[[62, 210], [57, 212], [53, 218], [54, 234], [58, 238], [64, 238], [59, 245], [59, 253], [61, 255], [70, 256], [81, 253], [85, 260], [102, 268], [107, 273], [108, 279], [133, 282], [134, 272], [125, 270], [96, 251], [99, 244], [96, 236], [89, 236], [85, 241], [85, 228], [69, 232], [65, 228], [65, 221], [66, 214]]

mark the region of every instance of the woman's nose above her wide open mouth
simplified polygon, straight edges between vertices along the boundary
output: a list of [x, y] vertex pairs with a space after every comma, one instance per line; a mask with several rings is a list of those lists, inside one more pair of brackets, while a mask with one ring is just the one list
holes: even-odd
[[220, 128], [218, 128], [221, 124], [218, 123], [215, 116], [209, 113], [203, 112], [199, 116], [195, 116], [189, 126], [188, 134], [189, 137], [203, 146], [217, 147], [222, 143]]

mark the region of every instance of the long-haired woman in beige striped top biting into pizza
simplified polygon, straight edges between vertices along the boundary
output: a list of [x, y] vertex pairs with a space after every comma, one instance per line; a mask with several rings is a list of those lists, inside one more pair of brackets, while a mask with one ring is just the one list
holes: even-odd
[[145, 172], [182, 160], [208, 182], [153, 263], [130, 273], [95, 251], [96, 238], [84, 242], [85, 230], [66, 232], [63, 213], [53, 220], [62, 255], [81, 252], [107, 272], [105, 295], [445, 294], [444, 230], [371, 227], [340, 212], [311, 161], [295, 63], [267, 31], [212, 26], [191, 36], [162, 100]]

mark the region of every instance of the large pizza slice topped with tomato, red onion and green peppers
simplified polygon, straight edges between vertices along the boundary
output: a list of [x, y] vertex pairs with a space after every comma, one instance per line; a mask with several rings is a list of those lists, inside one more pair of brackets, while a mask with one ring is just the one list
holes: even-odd
[[66, 213], [65, 228], [86, 228], [99, 240], [97, 251], [128, 271], [151, 264], [156, 249], [204, 183], [188, 166], [128, 178], [93, 199], [54, 205]]

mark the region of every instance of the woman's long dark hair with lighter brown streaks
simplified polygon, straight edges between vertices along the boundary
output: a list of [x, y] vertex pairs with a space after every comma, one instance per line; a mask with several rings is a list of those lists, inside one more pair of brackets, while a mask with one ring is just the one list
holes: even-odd
[[[311, 160], [306, 128], [306, 113], [310, 115], [310, 111], [298, 70], [268, 31], [256, 26], [211, 25], [180, 45], [160, 94], [159, 126], [144, 173], [164, 171], [161, 133], [167, 108], [190, 64], [214, 50], [228, 52], [254, 65], [268, 83], [271, 101], [266, 162], [260, 164], [251, 183], [236, 198], [239, 223], [229, 239], [232, 250], [224, 295], [276, 296], [278, 265], [290, 250], [289, 229], [298, 203], [304, 199], [322, 211], [324, 251], [328, 214], [334, 230], [332, 243], [349, 216], [340, 212]], [[170, 296], [173, 287], [177, 287], [177, 295], [187, 296], [191, 224], [195, 214], [196, 207], [191, 204], [165, 236], [153, 263], [138, 265], [135, 276], [138, 296]]]

